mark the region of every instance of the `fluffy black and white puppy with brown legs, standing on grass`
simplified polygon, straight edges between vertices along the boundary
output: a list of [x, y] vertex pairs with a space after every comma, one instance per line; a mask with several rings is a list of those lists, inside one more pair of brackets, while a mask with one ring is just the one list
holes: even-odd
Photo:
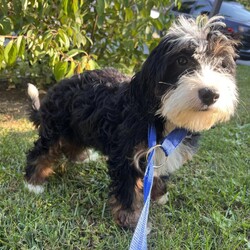
[[85, 71], [52, 87], [41, 104], [30, 85], [30, 119], [39, 138], [27, 154], [28, 188], [43, 191], [62, 154], [76, 160], [94, 148], [108, 158], [112, 214], [119, 225], [133, 228], [143, 205], [149, 125], [155, 125], [158, 142], [174, 128], [186, 128], [189, 135], [168, 158], [156, 150], [161, 167], [152, 199], [166, 202], [164, 179], [192, 158], [197, 132], [235, 112], [236, 42], [222, 27], [218, 17], [202, 27], [180, 17], [132, 78], [110, 68]]

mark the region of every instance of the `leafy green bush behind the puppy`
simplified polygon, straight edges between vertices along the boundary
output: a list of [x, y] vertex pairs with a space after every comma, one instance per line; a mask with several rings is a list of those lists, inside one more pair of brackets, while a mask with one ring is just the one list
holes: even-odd
[[[177, 1], [176, 1], [177, 2]], [[170, 0], [2, 0], [0, 69], [56, 81], [114, 66], [132, 72], [168, 27]], [[152, 8], [160, 10], [157, 19]], [[37, 69], [39, 68], [39, 69]], [[17, 70], [18, 69], [18, 70]]]

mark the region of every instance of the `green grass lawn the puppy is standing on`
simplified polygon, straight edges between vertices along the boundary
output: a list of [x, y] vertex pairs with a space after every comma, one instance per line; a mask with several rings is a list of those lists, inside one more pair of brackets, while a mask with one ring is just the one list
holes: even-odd
[[[238, 67], [238, 82], [235, 118], [204, 133], [198, 155], [170, 179], [170, 201], [151, 205], [149, 249], [250, 249], [249, 67]], [[62, 161], [43, 194], [24, 188], [35, 138], [26, 119], [0, 116], [0, 249], [128, 249], [132, 232], [108, 208], [104, 161]]]

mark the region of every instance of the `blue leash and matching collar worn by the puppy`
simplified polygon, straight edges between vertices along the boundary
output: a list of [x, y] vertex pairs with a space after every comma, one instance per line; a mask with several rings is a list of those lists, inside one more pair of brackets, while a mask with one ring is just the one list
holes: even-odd
[[[188, 131], [185, 129], [174, 129], [169, 133], [161, 144], [161, 149], [166, 156], [169, 156], [175, 148], [185, 138]], [[148, 147], [156, 146], [156, 130], [154, 126], [149, 126], [148, 130]], [[152, 149], [148, 155], [147, 169], [144, 175], [143, 193], [144, 193], [144, 207], [142, 209], [139, 221], [134, 231], [134, 235], [130, 244], [129, 250], [146, 250], [147, 249], [147, 222], [150, 206], [150, 194], [154, 179], [154, 152]]]

